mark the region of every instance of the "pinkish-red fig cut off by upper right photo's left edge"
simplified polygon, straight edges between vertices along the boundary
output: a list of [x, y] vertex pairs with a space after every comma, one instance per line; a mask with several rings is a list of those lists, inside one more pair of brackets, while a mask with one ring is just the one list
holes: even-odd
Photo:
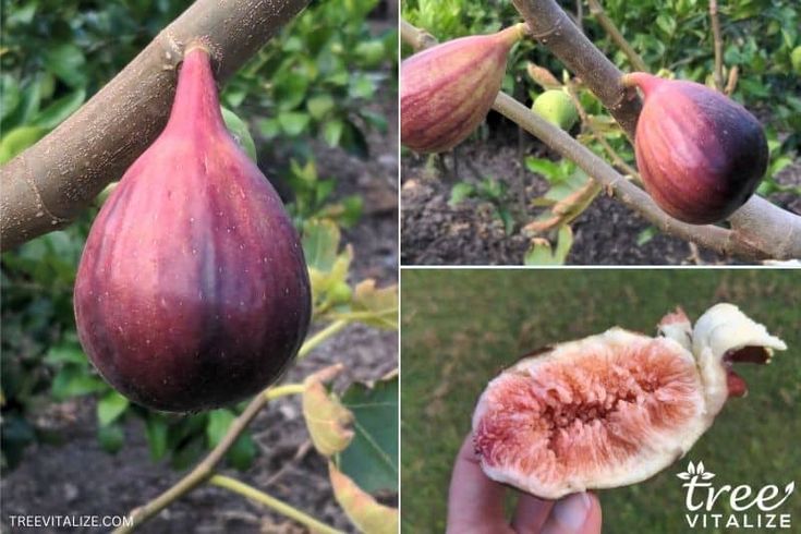
[[478, 128], [500, 90], [509, 49], [525, 23], [423, 50], [401, 63], [401, 142], [418, 153], [450, 150]]

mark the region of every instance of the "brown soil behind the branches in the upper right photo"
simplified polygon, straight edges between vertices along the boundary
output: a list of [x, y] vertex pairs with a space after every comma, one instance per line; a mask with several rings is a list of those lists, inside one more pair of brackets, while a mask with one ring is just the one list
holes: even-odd
[[[490, 114], [490, 124], [500, 126]], [[494, 130], [487, 141], [471, 141], [457, 147], [442, 162], [404, 151], [401, 159], [401, 262], [403, 265], [520, 265], [529, 239], [520, 222], [533, 220], [542, 208], [531, 202], [547, 191], [547, 182], [522, 168], [525, 155], [556, 158], [541, 142], [524, 136], [508, 123]], [[491, 126], [490, 126], [491, 128]], [[519, 149], [520, 147], [520, 149]], [[453, 157], [457, 174], [453, 174]], [[441, 165], [444, 163], [444, 165]], [[442, 166], [447, 170], [442, 170]], [[505, 183], [518, 211], [518, 224], [507, 234], [487, 201], [469, 198], [449, 206], [451, 187], [458, 181], [477, 183], [491, 177]], [[785, 168], [776, 182], [801, 187], [801, 160]], [[801, 214], [801, 197], [777, 193], [768, 201]], [[608, 196], [598, 196], [573, 222], [574, 242], [567, 259], [572, 265], [687, 265], [739, 264], [711, 251], [695, 250], [683, 240], [654, 233], [639, 244], [650, 228], [647, 220]]]

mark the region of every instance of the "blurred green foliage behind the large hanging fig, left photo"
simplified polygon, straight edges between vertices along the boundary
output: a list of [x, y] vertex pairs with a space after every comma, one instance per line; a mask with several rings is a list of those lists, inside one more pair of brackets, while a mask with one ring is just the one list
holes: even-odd
[[[190, 4], [2, 0], [0, 162], [78, 109]], [[366, 135], [386, 132], [387, 120], [367, 106], [379, 90], [397, 87], [398, 35], [386, 8], [379, 0], [312, 1], [224, 85], [223, 106], [248, 124], [259, 167], [291, 203], [301, 229], [321, 219], [350, 226], [361, 215], [359, 196], [331, 199], [336, 177], [318, 175], [312, 148], [320, 139], [366, 158]], [[381, 24], [371, 20], [378, 12]], [[75, 332], [72, 287], [104, 196], [65, 230], [2, 255], [3, 466], [15, 465], [28, 444], [57, 439], [34, 414], [77, 396], [97, 398], [106, 450], [123, 446], [124, 417], [139, 416], [153, 458], [168, 456], [175, 468], [216, 445], [235, 415], [234, 409], [186, 417], [143, 410], [87, 362]], [[245, 434], [228, 459], [246, 469], [255, 453]]]

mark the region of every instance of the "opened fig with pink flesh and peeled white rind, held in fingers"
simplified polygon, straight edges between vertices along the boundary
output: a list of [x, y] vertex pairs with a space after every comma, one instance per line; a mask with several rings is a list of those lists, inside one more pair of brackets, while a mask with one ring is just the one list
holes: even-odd
[[620, 328], [548, 348], [489, 383], [473, 414], [490, 478], [542, 498], [644, 481], [683, 456], [726, 399], [735, 362], [785, 343], [731, 304], [692, 328], [679, 308], [651, 338]]

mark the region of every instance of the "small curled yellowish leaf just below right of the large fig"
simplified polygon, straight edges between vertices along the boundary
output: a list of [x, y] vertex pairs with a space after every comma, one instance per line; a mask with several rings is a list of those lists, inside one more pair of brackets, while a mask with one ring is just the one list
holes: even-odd
[[342, 365], [326, 367], [308, 376], [304, 381], [303, 417], [306, 420], [308, 434], [315, 449], [330, 457], [344, 450], [353, 439], [353, 430], [349, 428], [353, 414], [339, 402], [335, 393], [329, 393], [323, 385], [331, 380]]

